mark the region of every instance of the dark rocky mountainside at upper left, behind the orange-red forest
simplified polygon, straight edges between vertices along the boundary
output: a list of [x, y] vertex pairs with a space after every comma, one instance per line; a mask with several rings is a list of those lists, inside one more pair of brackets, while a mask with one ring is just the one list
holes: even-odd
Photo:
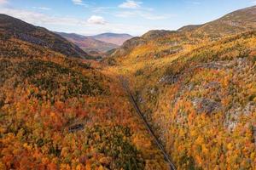
[[[89, 59], [91, 58], [89, 54], [86, 54], [84, 50], [79, 48], [73, 42], [67, 41], [65, 38], [55, 34], [52, 31], [39, 26], [32, 26], [22, 20], [16, 19], [6, 14], [0, 14], [0, 35], [4, 39], [3, 45], [8, 43], [14, 44], [19, 42], [19, 48], [16, 47], [15, 50], [19, 50], [19, 53], [24, 52], [21, 49], [22, 44], [26, 44], [30, 49], [33, 48], [44, 48], [60, 54], [64, 54], [68, 57]], [[15, 45], [17, 45], [15, 43]], [[3, 48], [3, 46], [2, 46]], [[5, 55], [9, 53], [14, 53], [14, 51], [3, 50], [1, 54], [5, 51]], [[26, 51], [27, 52], [27, 51]], [[23, 53], [24, 54], [24, 53]]]

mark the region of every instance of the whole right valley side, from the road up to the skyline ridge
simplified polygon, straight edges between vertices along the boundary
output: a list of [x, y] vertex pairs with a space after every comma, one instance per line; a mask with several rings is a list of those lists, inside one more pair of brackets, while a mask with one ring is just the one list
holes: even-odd
[[242, 29], [229, 28], [234, 32], [219, 26], [222, 37], [200, 31], [218, 20], [149, 31], [104, 61], [107, 71], [130, 80], [177, 169], [256, 168], [255, 9], [222, 18], [247, 16]]

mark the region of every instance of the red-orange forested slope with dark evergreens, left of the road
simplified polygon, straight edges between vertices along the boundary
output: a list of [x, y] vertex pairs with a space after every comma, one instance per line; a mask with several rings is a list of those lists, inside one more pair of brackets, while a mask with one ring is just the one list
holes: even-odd
[[1, 169], [166, 168], [119, 84], [88, 63], [2, 57], [0, 69]]

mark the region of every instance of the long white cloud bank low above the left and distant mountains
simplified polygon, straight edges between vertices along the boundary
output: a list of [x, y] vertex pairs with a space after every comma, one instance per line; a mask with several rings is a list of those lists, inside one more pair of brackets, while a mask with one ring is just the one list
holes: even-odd
[[[43, 26], [51, 31], [63, 31], [67, 33], [79, 33], [83, 35], [96, 35], [103, 32], [130, 33], [139, 36], [149, 30], [168, 29], [162, 26], [132, 26], [130, 24], [108, 23], [103, 19], [102, 24], [90, 23], [67, 16], [55, 16], [42, 14], [26, 9], [0, 8], [2, 14], [8, 14], [20, 20], [24, 20], [34, 26]], [[93, 17], [95, 18], [95, 17]]]

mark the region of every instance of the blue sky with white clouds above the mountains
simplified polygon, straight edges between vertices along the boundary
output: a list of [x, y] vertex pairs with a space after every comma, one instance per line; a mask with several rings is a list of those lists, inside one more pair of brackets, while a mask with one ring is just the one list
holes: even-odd
[[50, 31], [140, 36], [203, 24], [253, 5], [256, 0], [0, 0], [0, 14]]

